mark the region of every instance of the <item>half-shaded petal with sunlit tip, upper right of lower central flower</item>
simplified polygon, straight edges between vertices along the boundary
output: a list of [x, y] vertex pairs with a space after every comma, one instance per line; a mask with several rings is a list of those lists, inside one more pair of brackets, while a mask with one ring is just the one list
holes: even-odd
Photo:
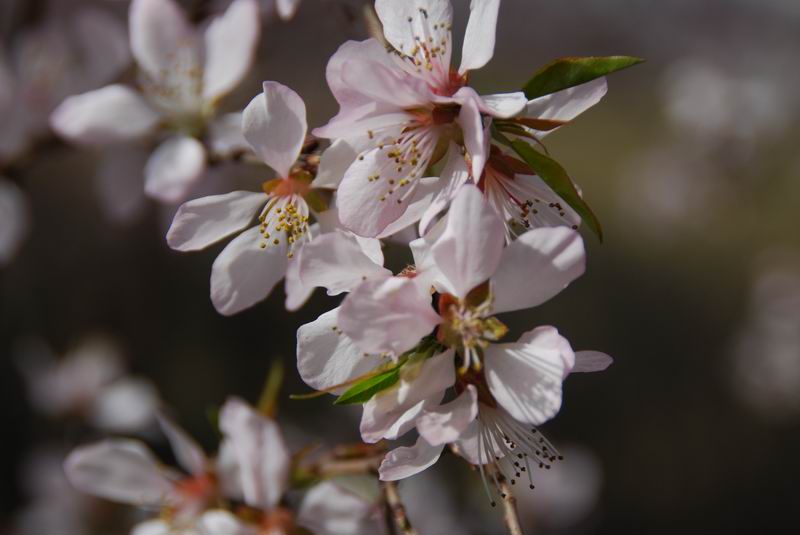
[[566, 227], [528, 231], [506, 247], [492, 275], [494, 312], [541, 305], [585, 269], [586, 252], [578, 232]]

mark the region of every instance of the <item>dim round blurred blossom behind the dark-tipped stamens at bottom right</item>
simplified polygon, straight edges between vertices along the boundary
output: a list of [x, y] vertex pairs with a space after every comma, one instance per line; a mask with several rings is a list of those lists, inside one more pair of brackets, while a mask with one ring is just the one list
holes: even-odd
[[587, 449], [562, 448], [564, 462], [536, 477], [536, 488], [515, 494], [520, 519], [531, 533], [572, 533], [592, 513], [603, 485], [603, 471]]

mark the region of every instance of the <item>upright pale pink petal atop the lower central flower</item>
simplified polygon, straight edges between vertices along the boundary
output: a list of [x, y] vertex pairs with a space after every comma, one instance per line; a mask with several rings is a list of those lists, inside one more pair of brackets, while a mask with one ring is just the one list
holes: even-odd
[[504, 243], [503, 223], [480, 190], [466, 185], [456, 195], [431, 253], [456, 296], [463, 298], [495, 272]]

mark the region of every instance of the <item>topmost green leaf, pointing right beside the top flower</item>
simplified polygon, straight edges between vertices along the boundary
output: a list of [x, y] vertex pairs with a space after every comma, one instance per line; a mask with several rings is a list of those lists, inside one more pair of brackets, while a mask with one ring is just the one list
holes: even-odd
[[643, 62], [631, 56], [566, 57], [542, 67], [522, 88], [528, 100], [591, 82]]

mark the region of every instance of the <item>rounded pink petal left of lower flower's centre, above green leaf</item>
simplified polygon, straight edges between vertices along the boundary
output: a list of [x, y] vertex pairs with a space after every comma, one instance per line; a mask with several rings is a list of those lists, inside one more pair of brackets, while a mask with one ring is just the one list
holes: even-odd
[[413, 279], [367, 281], [342, 303], [339, 327], [366, 353], [399, 355], [439, 324], [439, 315]]

